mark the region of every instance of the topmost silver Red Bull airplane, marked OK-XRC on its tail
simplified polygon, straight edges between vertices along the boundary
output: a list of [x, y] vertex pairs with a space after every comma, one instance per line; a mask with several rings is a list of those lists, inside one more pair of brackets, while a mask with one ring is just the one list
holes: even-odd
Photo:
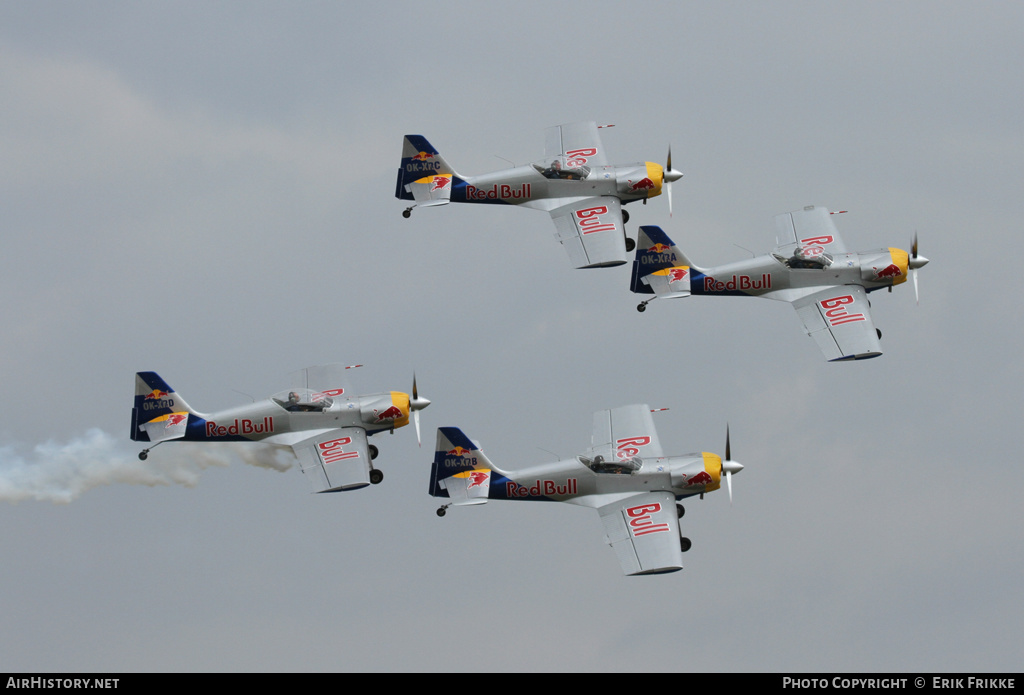
[[544, 159], [503, 171], [464, 176], [444, 161], [422, 135], [406, 135], [395, 198], [415, 201], [402, 211], [449, 203], [521, 205], [546, 210], [555, 236], [577, 268], [626, 263], [635, 243], [626, 238], [629, 213], [623, 205], [654, 198], [666, 190], [672, 212], [672, 182], [683, 174], [653, 162], [610, 166], [593, 122], [567, 123], [546, 131]]

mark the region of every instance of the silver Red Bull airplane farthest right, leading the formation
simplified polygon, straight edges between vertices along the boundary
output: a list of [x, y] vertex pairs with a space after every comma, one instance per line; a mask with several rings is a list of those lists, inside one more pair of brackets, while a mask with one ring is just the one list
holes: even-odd
[[[840, 211], [840, 212], [846, 212]], [[701, 268], [660, 227], [640, 227], [630, 289], [658, 298], [690, 295], [751, 296], [790, 302], [825, 359], [846, 361], [882, 354], [882, 332], [871, 320], [867, 293], [913, 279], [928, 259], [918, 253], [879, 249], [848, 253], [827, 209], [808, 206], [775, 217], [778, 246], [771, 254]]]

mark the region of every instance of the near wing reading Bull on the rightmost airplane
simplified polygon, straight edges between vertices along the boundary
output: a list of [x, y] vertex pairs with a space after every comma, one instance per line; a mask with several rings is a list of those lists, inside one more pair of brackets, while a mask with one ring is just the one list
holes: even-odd
[[859, 285], [825, 288], [793, 302], [807, 335], [829, 361], [882, 354], [867, 293]]

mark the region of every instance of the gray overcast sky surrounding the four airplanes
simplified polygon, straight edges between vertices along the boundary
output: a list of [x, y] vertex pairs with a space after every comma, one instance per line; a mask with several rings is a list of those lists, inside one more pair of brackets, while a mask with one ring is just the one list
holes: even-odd
[[[1022, 32], [1017, 2], [0, 3], [3, 667], [1019, 670]], [[578, 120], [686, 174], [632, 229], [712, 264], [849, 210], [853, 249], [919, 232], [921, 304], [873, 295], [886, 353], [831, 364], [784, 304], [637, 313], [544, 213], [400, 217], [402, 134], [482, 173]], [[212, 410], [334, 361], [433, 401], [423, 448], [375, 438], [380, 486], [134, 460], [136, 371]], [[624, 577], [586, 509], [434, 516], [434, 427], [516, 467], [638, 401], [746, 466], [687, 505], [682, 572]]]

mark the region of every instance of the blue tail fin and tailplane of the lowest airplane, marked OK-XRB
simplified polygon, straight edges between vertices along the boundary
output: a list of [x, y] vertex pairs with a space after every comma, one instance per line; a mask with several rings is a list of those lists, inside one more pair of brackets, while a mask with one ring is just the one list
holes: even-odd
[[451, 497], [453, 505], [482, 505], [498, 472], [483, 451], [457, 427], [437, 428], [437, 445], [430, 467], [430, 494]]

